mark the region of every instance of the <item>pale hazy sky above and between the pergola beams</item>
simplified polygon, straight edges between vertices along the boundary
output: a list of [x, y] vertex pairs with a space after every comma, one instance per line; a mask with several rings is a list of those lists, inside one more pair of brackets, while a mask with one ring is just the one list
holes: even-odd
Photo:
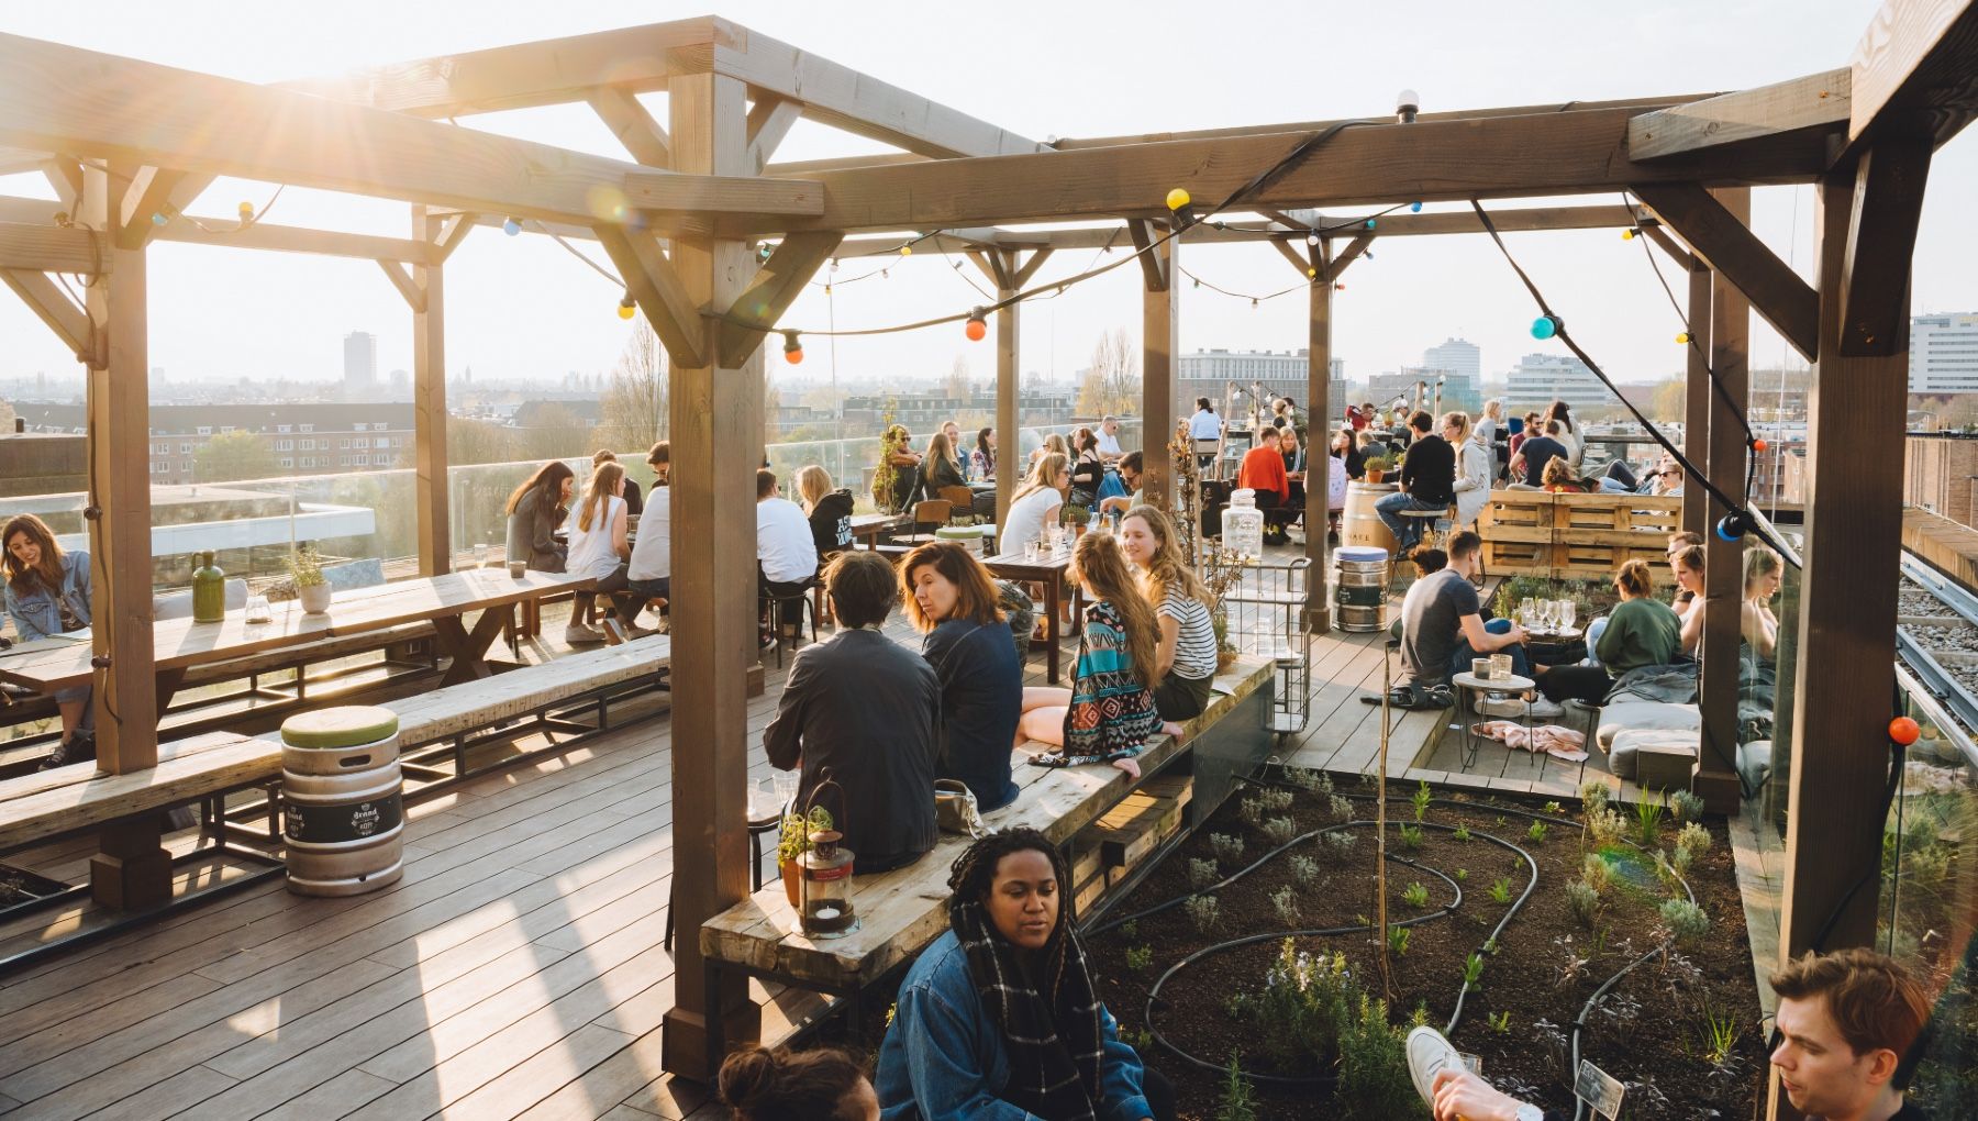
[[[704, 14], [706, 6], [591, 0], [560, 4], [6, 4], [0, 30], [99, 51], [275, 81], [358, 69], [512, 42], [597, 32]], [[1387, 115], [1394, 91], [1414, 87], [1424, 111], [1681, 95], [1764, 85], [1845, 65], [1875, 10], [1871, 0], [1663, 2], [1646, 8], [1569, 0], [1474, 4], [1422, 0], [1373, 16], [1365, 4], [1230, 2], [1205, 8], [1141, 0], [993, 6], [797, 4], [734, 0], [722, 16], [856, 67], [1033, 138]], [[665, 97], [649, 97], [665, 121]], [[625, 158], [582, 107], [465, 119], [489, 129]], [[884, 150], [803, 123], [777, 158]], [[0, 176], [0, 192], [51, 198], [38, 176]], [[273, 188], [220, 180], [194, 214], [231, 216]], [[1800, 273], [1810, 269], [1812, 188], [1754, 192], [1754, 227]], [[1978, 308], [1978, 223], [1956, 217], [1978, 198], [1978, 140], [1938, 152], [1917, 243], [1917, 310]], [[1571, 200], [1567, 200], [1571, 202]], [[1580, 202], [1618, 202], [1598, 198]], [[1499, 204], [1507, 206], [1507, 204]], [[402, 235], [404, 204], [289, 190], [273, 223]], [[1638, 243], [1618, 231], [1509, 235], [1511, 249], [1573, 324], [1574, 336], [1620, 380], [1650, 380], [1681, 364], [1679, 324]], [[580, 243], [582, 245], [582, 243]], [[595, 247], [587, 251], [603, 261]], [[380, 336], [380, 372], [411, 366], [411, 316], [368, 261], [158, 243], [150, 271], [150, 362], [174, 378], [336, 378], [340, 338]], [[1092, 253], [1060, 253], [1040, 279], [1086, 269]], [[981, 302], [953, 259], [922, 247], [894, 261], [890, 279], [809, 289], [785, 322], [878, 326], [965, 310]], [[609, 265], [607, 265], [609, 267]], [[847, 261], [854, 277], [876, 263]], [[1187, 247], [1183, 267], [1238, 293], [1296, 285], [1268, 245]], [[1669, 273], [1675, 279], [1673, 271]], [[1462, 336], [1484, 348], [1485, 374], [1537, 344], [1535, 308], [1482, 235], [1377, 243], [1377, 259], [1347, 273], [1337, 297], [1335, 354], [1365, 380], [1424, 346]], [[475, 231], [447, 269], [447, 368], [481, 378], [556, 376], [611, 366], [627, 324], [619, 289], [546, 237]], [[1288, 350], [1304, 344], [1302, 293], [1252, 308], [1209, 289], [1183, 291], [1183, 350]], [[1025, 318], [1025, 370], [1070, 376], [1094, 338], [1114, 326], [1139, 334], [1137, 269], [1120, 269]], [[845, 378], [934, 378], [965, 356], [993, 376], [993, 344], [969, 344], [959, 326], [874, 340], [813, 340], [801, 368], [777, 378], [823, 380], [833, 350]], [[1754, 318], [1753, 364], [1774, 366], [1778, 336]], [[0, 378], [69, 374], [73, 358], [40, 320], [0, 295]]]

